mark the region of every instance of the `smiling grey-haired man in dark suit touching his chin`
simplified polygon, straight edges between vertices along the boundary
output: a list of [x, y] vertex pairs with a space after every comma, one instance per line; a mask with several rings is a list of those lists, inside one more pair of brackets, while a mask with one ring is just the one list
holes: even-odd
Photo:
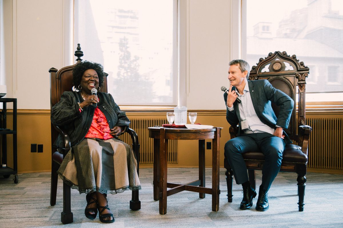
[[[294, 102], [280, 90], [275, 89], [268, 80], [249, 81], [249, 64], [242, 59], [229, 63], [228, 79], [230, 87], [224, 94], [226, 120], [231, 126], [238, 126], [238, 137], [225, 144], [225, 155], [233, 170], [237, 184], [243, 186], [243, 200], [240, 209], [252, 206], [256, 191], [250, 186], [247, 167], [242, 154], [248, 151], [261, 151], [265, 156], [262, 168], [262, 184], [256, 203], [256, 210], [269, 208], [268, 190], [280, 171], [285, 144], [291, 144], [283, 128], [291, 119]], [[236, 101], [236, 98], [241, 103]], [[280, 107], [276, 117], [271, 102]]]

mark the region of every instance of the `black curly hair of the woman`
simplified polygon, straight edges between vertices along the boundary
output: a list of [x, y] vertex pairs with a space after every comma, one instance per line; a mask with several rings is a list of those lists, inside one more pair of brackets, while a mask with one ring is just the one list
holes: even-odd
[[93, 69], [96, 71], [99, 78], [99, 86], [103, 86], [105, 79], [104, 67], [99, 63], [83, 61], [79, 64], [76, 64], [76, 66], [73, 69], [73, 84], [76, 89], [78, 89], [78, 86], [81, 83], [83, 73], [89, 69]]

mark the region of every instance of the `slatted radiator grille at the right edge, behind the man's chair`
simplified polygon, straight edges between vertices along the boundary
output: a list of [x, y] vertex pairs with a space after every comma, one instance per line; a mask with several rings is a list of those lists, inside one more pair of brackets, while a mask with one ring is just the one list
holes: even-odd
[[343, 118], [307, 118], [312, 127], [308, 167], [343, 169]]

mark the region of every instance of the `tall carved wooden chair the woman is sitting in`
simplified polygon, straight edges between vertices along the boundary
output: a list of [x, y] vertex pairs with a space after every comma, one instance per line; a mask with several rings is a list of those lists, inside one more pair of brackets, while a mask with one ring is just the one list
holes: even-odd
[[[80, 44], [78, 44], [77, 51], [74, 54], [76, 57], [76, 64], [82, 61], [81, 57], [83, 56], [83, 52], [81, 51]], [[73, 75], [72, 70], [74, 66], [67, 66], [63, 67], [57, 71], [55, 68], [50, 68], [50, 98], [51, 98], [51, 106], [54, 106], [56, 103], [59, 102], [61, 95], [64, 91], [72, 91], [73, 87]], [[105, 73], [106, 77], [108, 76]], [[107, 78], [105, 77], [104, 85], [100, 88], [101, 92], [107, 93]], [[139, 141], [138, 136], [134, 130], [128, 128], [126, 131], [130, 134], [132, 139], [132, 149], [134, 151], [135, 157], [137, 161], [139, 161]], [[58, 134], [62, 134], [64, 136], [64, 147], [63, 148], [55, 148], [53, 146]], [[70, 149], [70, 140], [69, 135], [63, 132], [63, 129], [59, 128], [58, 126], [51, 124], [51, 152], [52, 152], [52, 160], [51, 160], [51, 190], [50, 190], [50, 205], [54, 206], [56, 204], [56, 192], [57, 192], [57, 170], [60, 167], [60, 164], [66, 156], [67, 152]], [[137, 172], [139, 173], [139, 163], [137, 164]], [[130, 201], [130, 209], [131, 210], [139, 210], [141, 209], [141, 202], [139, 201], [139, 192], [138, 190], [132, 191], [132, 199]], [[71, 212], [70, 207], [70, 187], [63, 183], [63, 212], [61, 213], [61, 222], [63, 224], [68, 224], [73, 222], [73, 213]]]

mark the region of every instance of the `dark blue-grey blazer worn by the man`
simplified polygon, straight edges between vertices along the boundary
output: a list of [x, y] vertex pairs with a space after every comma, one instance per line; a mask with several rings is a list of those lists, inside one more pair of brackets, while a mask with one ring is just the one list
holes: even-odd
[[[276, 129], [276, 125], [282, 128], [288, 128], [289, 120], [291, 119], [294, 101], [287, 94], [281, 90], [275, 89], [268, 80], [248, 80], [248, 86], [250, 90], [250, 95], [252, 99], [252, 104], [256, 111], [257, 116], [262, 123], [268, 125], [270, 128]], [[232, 90], [236, 88], [233, 87]], [[225, 106], [227, 101], [227, 93], [224, 93]], [[272, 109], [271, 103], [280, 106], [279, 117], [276, 118], [275, 113]], [[234, 103], [234, 110], [229, 111], [226, 108], [226, 120], [231, 126], [237, 126], [238, 135], [240, 134], [241, 126], [239, 121], [239, 108], [237, 101]], [[285, 135], [285, 143], [291, 144], [292, 141], [289, 139], [288, 135]]]

